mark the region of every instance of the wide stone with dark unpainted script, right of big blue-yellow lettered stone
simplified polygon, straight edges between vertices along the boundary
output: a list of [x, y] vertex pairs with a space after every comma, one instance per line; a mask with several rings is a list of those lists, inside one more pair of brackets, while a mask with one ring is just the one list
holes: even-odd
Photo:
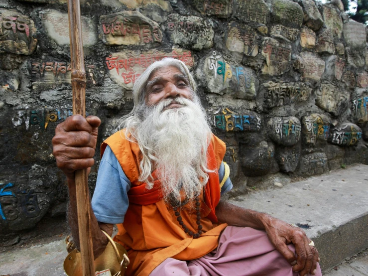
[[267, 89], [264, 99], [268, 108], [304, 102], [309, 99], [312, 92], [312, 88], [302, 82], [275, 83], [269, 81], [263, 86]]

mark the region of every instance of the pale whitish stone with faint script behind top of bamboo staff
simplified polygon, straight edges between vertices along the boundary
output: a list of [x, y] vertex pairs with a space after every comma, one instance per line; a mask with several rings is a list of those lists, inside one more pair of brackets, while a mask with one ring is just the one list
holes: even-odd
[[[59, 46], [69, 45], [69, 19], [68, 13], [56, 9], [40, 11], [42, 26], [47, 35]], [[95, 24], [91, 18], [81, 16], [83, 46], [92, 46], [97, 42]]]

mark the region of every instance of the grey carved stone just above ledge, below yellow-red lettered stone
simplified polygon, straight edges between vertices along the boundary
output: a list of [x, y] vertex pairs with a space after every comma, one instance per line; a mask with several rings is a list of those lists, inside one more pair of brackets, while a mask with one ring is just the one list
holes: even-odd
[[328, 159], [324, 152], [305, 154], [300, 160], [300, 174], [303, 176], [322, 174], [328, 170]]

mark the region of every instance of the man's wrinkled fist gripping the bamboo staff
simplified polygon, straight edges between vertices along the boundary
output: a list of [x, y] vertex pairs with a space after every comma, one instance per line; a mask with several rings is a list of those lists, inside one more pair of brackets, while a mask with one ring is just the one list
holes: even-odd
[[74, 180], [76, 170], [90, 170], [95, 163], [93, 156], [100, 124], [101, 120], [96, 116], [84, 118], [73, 115], [56, 127], [52, 138], [52, 154], [56, 158], [56, 165], [68, 179]]

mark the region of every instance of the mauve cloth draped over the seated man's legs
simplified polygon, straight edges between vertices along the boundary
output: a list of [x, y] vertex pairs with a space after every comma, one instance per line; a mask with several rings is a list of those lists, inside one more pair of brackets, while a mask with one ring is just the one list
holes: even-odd
[[[295, 252], [293, 245], [289, 249]], [[250, 227], [228, 226], [216, 250], [192, 261], [166, 259], [150, 276], [298, 276], [268, 240]], [[322, 276], [317, 263], [315, 276]]]

